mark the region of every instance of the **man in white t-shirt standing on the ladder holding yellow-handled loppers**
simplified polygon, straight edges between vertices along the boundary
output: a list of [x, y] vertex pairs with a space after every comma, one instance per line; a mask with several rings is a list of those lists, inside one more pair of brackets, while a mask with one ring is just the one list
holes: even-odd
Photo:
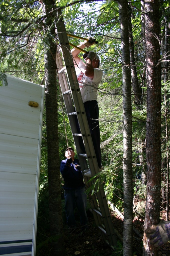
[[[95, 43], [95, 40], [90, 38], [89, 41], [84, 41], [82, 44], [78, 45], [80, 49], [89, 47]], [[79, 87], [81, 91], [82, 100], [84, 103], [84, 108], [86, 111], [86, 116], [90, 128], [90, 133], [92, 136], [92, 141], [94, 145], [94, 150], [96, 158], [99, 165], [99, 170], [102, 170], [101, 165], [101, 150], [100, 150], [100, 129], [99, 129], [99, 106], [97, 102], [97, 90], [99, 83], [103, 76], [103, 71], [99, 69], [100, 59], [99, 56], [90, 51], [89, 54], [84, 54], [83, 58], [86, 63], [84, 63], [79, 57], [81, 50], [73, 48], [71, 50], [77, 79], [79, 82]], [[77, 125], [78, 131], [80, 131]], [[85, 151], [84, 145], [81, 142], [80, 146], [82, 151]], [[84, 175], [91, 177], [90, 170]]]

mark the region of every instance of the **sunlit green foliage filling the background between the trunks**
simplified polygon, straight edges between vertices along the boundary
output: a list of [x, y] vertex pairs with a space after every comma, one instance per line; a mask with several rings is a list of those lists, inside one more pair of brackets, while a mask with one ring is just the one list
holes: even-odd
[[[62, 8], [66, 30], [69, 34], [81, 37], [92, 36], [99, 42], [90, 50], [95, 51], [101, 60], [100, 68], [104, 72], [99, 93], [99, 118], [101, 133], [102, 164], [104, 170], [96, 177], [96, 186], [102, 182], [107, 199], [123, 213], [123, 95], [122, 95], [122, 63], [120, 47], [120, 28], [118, 5], [114, 1], [92, 1], [88, 4], [79, 1], [74, 4], [67, 0], [59, 1]], [[141, 35], [140, 1], [131, 1], [132, 30], [137, 78], [142, 89], [140, 109], [137, 108], [135, 95], [132, 92], [132, 144], [133, 144], [133, 193], [135, 201], [144, 201], [146, 196], [145, 181], [145, 125], [147, 85], [145, 81], [145, 52]], [[165, 23], [169, 19], [169, 2], [161, 2], [163, 20], [161, 24], [162, 40]], [[50, 15], [50, 14], [48, 14]], [[35, 83], [44, 84], [44, 52], [48, 50], [48, 41], [55, 42], [52, 34], [43, 30], [44, 17], [38, 1], [3, 0], [0, 4], [0, 83], [7, 85], [5, 73], [12, 74]], [[49, 28], [50, 29], [50, 28]], [[49, 31], [48, 31], [49, 32]], [[168, 39], [169, 40], [169, 39]], [[78, 45], [80, 39], [69, 37], [69, 41]], [[46, 48], [44, 48], [44, 42]], [[169, 42], [167, 42], [169, 47]], [[169, 49], [169, 48], [168, 48]], [[169, 156], [169, 57], [161, 53], [162, 69], [165, 62], [166, 81], [162, 79], [162, 186], [166, 180], [166, 158]], [[1, 88], [0, 88], [1, 89]], [[58, 89], [59, 91], [59, 89]], [[68, 117], [63, 108], [62, 99], [58, 97], [58, 134], [59, 159], [64, 158], [68, 145], [74, 146]], [[167, 119], [165, 119], [167, 117]], [[167, 123], [166, 123], [167, 120]], [[66, 125], [66, 131], [65, 126]], [[166, 134], [166, 126], [168, 133]], [[61, 180], [62, 185], [62, 180]], [[45, 110], [41, 149], [39, 221], [43, 220], [44, 229], [48, 224], [48, 173], [47, 173], [47, 141]], [[161, 200], [163, 200], [162, 198]], [[164, 206], [162, 202], [162, 206]], [[164, 208], [165, 209], [165, 208]], [[137, 214], [137, 212], [135, 213]], [[144, 212], [138, 213], [140, 216]], [[44, 232], [45, 233], [45, 232]]]

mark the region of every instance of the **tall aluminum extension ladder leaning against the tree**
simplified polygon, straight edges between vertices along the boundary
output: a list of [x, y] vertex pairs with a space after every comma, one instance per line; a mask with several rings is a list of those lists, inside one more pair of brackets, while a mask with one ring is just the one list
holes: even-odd
[[[62, 91], [81, 169], [87, 169], [89, 165], [92, 176], [94, 176], [99, 172], [99, 167], [81, 98], [81, 92], [61, 10], [57, 10], [57, 19], [56, 32], [58, 36], [58, 44], [56, 65], [59, 85]], [[78, 118], [81, 134], [77, 133], [75, 115], [77, 115]], [[83, 138], [86, 154], [81, 151], [79, 136], [82, 136]], [[93, 183], [93, 181], [89, 182], [89, 179], [89, 177], [84, 176], [84, 182], [87, 188], [89, 188]], [[116, 236], [102, 184], [98, 191], [96, 189], [93, 195], [89, 195], [89, 200], [96, 226], [100, 230], [104, 242], [114, 250], [114, 246], [116, 246]]]

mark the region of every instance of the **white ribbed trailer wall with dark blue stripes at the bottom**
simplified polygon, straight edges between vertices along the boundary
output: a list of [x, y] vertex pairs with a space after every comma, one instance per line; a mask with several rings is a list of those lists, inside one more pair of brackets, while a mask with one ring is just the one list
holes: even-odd
[[0, 87], [0, 255], [35, 255], [45, 89], [7, 78]]

